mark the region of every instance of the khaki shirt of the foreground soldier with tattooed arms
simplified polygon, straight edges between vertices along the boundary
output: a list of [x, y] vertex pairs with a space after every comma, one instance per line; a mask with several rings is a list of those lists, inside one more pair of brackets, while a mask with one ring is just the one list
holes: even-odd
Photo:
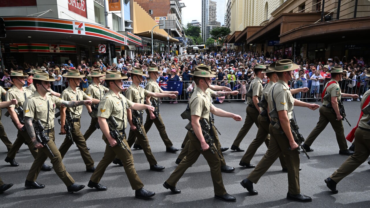
[[[47, 101], [49, 101], [49, 109], [47, 108]], [[23, 104], [24, 117], [34, 118], [34, 120], [41, 120], [41, 124], [45, 129], [54, 128], [54, 114], [55, 108], [60, 108], [63, 100], [61, 98], [46, 93], [46, 99], [41, 97], [36, 91], [30, 95]], [[47, 113], [49, 112], [49, 119]]]

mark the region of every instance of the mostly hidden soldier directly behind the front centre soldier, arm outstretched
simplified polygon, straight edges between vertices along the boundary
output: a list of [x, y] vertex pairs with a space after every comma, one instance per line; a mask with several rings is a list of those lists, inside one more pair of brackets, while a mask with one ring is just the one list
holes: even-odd
[[[201, 66], [198, 66], [198, 68], [199, 67], [201, 67]], [[209, 67], [207, 67], [207, 68], [210, 71], [210, 73], [216, 74], [215, 72], [211, 71]], [[204, 70], [206, 70], [206, 69], [204, 68]], [[212, 88], [214, 88], [214, 89], [225, 90], [225, 87], [223, 87], [223, 86], [218, 86], [218, 85], [209, 85], [209, 86], [210, 87], [212, 86]], [[226, 87], [226, 88], [228, 88], [228, 87]], [[228, 89], [230, 89], [230, 88], [228, 88]], [[193, 91], [195, 91], [195, 90], [196, 90], [196, 85], [194, 85], [194, 90]], [[205, 95], [207, 96], [210, 103], [212, 103], [212, 97], [222, 97], [222, 96], [233, 95], [233, 94], [238, 94], [238, 93], [239, 93], [238, 91], [232, 91], [232, 92], [217, 91], [216, 92], [216, 91], [211, 90], [211, 88], [207, 88], [207, 90], [205, 91]], [[212, 116], [212, 114], [210, 114], [210, 118], [211, 118], [211, 116]], [[222, 152], [228, 150], [229, 148], [228, 147], [221, 147], [221, 143], [220, 143], [219, 138], [218, 138], [218, 131], [216, 130], [216, 127], [214, 125], [212, 125], [211, 133], [213, 134], [213, 137], [214, 137], [214, 140], [215, 140], [215, 146], [216, 146], [217, 150], [219, 151], [219, 153], [221, 154], [221, 157], [222, 157], [222, 158], [220, 158], [221, 171], [222, 172], [232, 172], [232, 171], [234, 171], [235, 168], [226, 165], [225, 157], [223, 157]], [[190, 146], [190, 140], [189, 140], [188, 134], [186, 134], [184, 142], [185, 142], [185, 145], [184, 145], [182, 151], [180, 152], [179, 156], [177, 157], [177, 159], [175, 161], [176, 164], [180, 164], [181, 160], [188, 154], [189, 146]]]

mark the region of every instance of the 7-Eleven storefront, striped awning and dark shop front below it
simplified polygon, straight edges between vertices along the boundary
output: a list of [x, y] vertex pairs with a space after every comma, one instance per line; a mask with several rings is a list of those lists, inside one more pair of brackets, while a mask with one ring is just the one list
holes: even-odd
[[141, 45], [141, 39], [131, 33], [121, 34], [97, 24], [45, 17], [3, 19], [7, 36], [1, 43], [6, 66], [11, 61], [23, 66], [24, 62], [64, 64], [68, 60], [77, 65], [87, 58], [111, 62], [108, 53], [95, 51], [95, 47], [104, 44], [108, 52], [110, 44], [114, 44], [119, 49], [112, 51], [115, 56], [122, 53], [121, 46]]

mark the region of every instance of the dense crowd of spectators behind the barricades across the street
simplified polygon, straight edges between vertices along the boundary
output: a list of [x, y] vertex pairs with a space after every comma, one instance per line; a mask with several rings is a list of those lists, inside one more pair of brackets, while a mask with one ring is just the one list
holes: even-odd
[[[189, 55], [178, 57], [174, 53], [168, 54], [164, 52], [135, 54], [132, 58], [129, 56], [119, 56], [117, 57], [117, 64], [109, 64], [106, 59], [93, 61], [90, 58], [81, 61], [77, 66], [71, 63], [70, 60], [67, 63], [45, 61], [40, 65], [38, 63], [23, 63], [23, 66], [11, 63], [11, 66], [7, 69], [0, 71], [0, 85], [11, 87], [13, 83], [9, 78], [10, 70], [23, 70], [29, 73], [31, 70], [37, 68], [46, 70], [50, 75], [55, 77], [56, 81], [52, 83], [52, 89], [61, 93], [68, 86], [62, 74], [67, 73], [68, 68], [77, 68], [85, 74], [80, 84], [80, 88], [85, 90], [91, 81], [91, 78], [87, 75], [90, 74], [90, 70], [92, 69], [100, 69], [102, 72], [118, 70], [128, 76], [124, 81], [131, 81], [128, 72], [132, 70], [132, 67], [143, 68], [144, 71], [147, 71], [149, 66], [155, 65], [160, 70], [157, 81], [182, 81], [184, 84], [184, 93], [182, 93], [180, 100], [188, 100], [188, 95], [193, 88], [192, 76], [189, 73], [194, 67], [204, 64], [210, 66], [216, 73], [216, 77], [212, 79], [213, 84], [230, 87], [232, 90], [238, 90], [240, 92], [238, 95], [226, 97], [225, 100], [245, 101], [246, 89], [248, 89], [250, 81], [255, 78], [253, 66], [256, 63], [268, 65], [273, 61], [286, 58], [293, 59], [293, 57], [289, 57], [286, 54], [223, 49], [210, 53], [201, 52], [194, 57]], [[326, 72], [328, 70], [330, 71], [330, 68], [333, 66], [340, 66], [344, 70], [343, 80], [339, 82], [341, 91], [348, 94], [358, 94], [360, 98], [357, 100], [359, 101], [362, 98], [362, 94], [369, 89], [369, 77], [365, 75], [368, 70], [368, 64], [365, 61], [362, 57], [353, 57], [350, 59], [343, 57], [342, 60], [335, 57], [334, 59], [329, 58], [326, 61], [319, 59], [304, 60], [301, 57], [296, 57], [295, 63], [299, 65], [299, 68], [295, 69], [291, 83], [289, 84], [291, 88], [308, 87], [310, 89], [307, 93], [295, 94], [295, 98], [302, 101], [320, 101], [323, 87], [331, 78], [330, 74], [326, 74]], [[31, 73], [29, 75], [32, 76]], [[143, 77], [144, 80], [147, 78], [146, 76]], [[268, 78], [265, 76], [263, 85], [268, 83], [268, 81]], [[27, 80], [28, 84], [31, 82], [32, 79]], [[352, 99], [343, 98], [343, 100], [351, 101]], [[171, 103], [177, 103], [177, 100], [171, 100]]]

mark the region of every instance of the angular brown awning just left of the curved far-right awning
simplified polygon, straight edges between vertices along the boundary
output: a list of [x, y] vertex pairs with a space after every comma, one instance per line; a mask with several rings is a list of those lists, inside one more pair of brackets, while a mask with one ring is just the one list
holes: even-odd
[[[324, 13], [327, 14], [327, 13]], [[283, 13], [270, 20], [265, 26], [247, 38], [247, 43], [266, 43], [266, 40], [279, 40], [280, 34], [321, 19], [321, 13]]]

